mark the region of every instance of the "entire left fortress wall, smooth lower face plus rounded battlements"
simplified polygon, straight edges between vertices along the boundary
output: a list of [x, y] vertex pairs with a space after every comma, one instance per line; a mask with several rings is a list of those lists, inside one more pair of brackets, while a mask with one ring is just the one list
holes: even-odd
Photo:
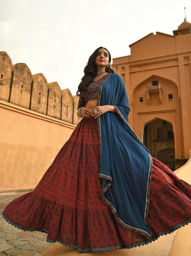
[[0, 52], [0, 191], [36, 187], [81, 120], [78, 99]]

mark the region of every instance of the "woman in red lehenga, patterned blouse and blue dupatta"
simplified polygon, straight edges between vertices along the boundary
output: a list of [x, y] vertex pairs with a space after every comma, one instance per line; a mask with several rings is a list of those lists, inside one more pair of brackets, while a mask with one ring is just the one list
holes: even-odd
[[148, 244], [191, 222], [191, 185], [142, 144], [128, 123], [125, 86], [99, 47], [78, 86], [83, 117], [37, 187], [3, 216], [78, 251]]

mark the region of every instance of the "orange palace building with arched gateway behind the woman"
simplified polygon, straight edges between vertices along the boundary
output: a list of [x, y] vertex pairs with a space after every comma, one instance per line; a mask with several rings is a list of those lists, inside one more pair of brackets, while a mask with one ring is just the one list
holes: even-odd
[[191, 23], [173, 35], [150, 33], [129, 45], [112, 67], [125, 83], [129, 123], [146, 147], [172, 170], [191, 149]]

